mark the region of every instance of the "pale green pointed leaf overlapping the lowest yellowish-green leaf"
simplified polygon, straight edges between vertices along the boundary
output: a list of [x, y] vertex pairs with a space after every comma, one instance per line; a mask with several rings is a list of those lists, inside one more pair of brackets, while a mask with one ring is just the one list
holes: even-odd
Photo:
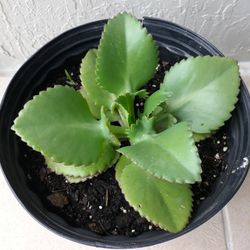
[[186, 123], [178, 123], [153, 135], [144, 135], [132, 146], [118, 152], [151, 174], [170, 182], [200, 181], [201, 166], [192, 133]]

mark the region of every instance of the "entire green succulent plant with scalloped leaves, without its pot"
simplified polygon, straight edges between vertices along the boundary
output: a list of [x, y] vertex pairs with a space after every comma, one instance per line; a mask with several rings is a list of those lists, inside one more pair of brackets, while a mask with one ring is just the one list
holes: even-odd
[[[195, 140], [230, 118], [239, 70], [224, 57], [188, 58], [149, 95], [145, 85], [157, 65], [152, 36], [134, 17], [118, 14], [105, 25], [98, 49], [82, 60], [82, 88], [40, 92], [13, 130], [70, 182], [115, 166], [129, 204], [155, 225], [178, 232], [191, 215], [190, 184], [201, 180]], [[134, 108], [136, 96], [145, 100], [143, 112]]]

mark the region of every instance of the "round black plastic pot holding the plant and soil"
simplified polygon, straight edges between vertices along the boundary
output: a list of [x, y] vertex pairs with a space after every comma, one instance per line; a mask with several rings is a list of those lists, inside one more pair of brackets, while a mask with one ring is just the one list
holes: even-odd
[[[10, 130], [13, 120], [23, 105], [46, 84], [53, 75], [72, 63], [80, 63], [88, 49], [97, 47], [106, 20], [89, 23], [72, 29], [40, 49], [16, 73], [7, 89], [0, 111], [0, 158], [2, 169], [11, 188], [24, 207], [38, 221], [54, 232], [71, 240], [99, 247], [142, 247], [168, 241], [198, 227], [215, 215], [233, 197], [242, 184], [247, 171], [250, 153], [250, 99], [241, 83], [241, 92], [233, 118], [227, 126], [230, 136], [228, 168], [218, 177], [209, 197], [193, 215], [189, 225], [180, 233], [148, 232], [138, 237], [101, 237], [84, 229], [75, 228], [61, 217], [48, 211], [40, 198], [32, 192], [18, 160], [18, 137]], [[222, 55], [213, 45], [192, 31], [176, 24], [144, 18], [144, 25], [160, 47], [160, 56], [170, 62], [197, 55]], [[247, 165], [247, 166], [246, 166]], [[29, 236], [27, 236], [29, 237]]]

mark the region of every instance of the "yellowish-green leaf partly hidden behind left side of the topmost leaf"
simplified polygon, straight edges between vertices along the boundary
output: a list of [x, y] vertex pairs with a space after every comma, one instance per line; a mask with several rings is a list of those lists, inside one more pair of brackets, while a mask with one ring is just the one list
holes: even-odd
[[82, 60], [80, 67], [81, 83], [90, 99], [96, 106], [111, 108], [115, 96], [96, 84], [97, 49], [90, 49]]

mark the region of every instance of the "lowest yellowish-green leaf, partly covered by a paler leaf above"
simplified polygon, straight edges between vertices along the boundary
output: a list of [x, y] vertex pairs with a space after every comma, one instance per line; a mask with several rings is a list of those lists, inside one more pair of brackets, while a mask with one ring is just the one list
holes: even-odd
[[190, 186], [159, 179], [123, 158], [117, 164], [116, 178], [125, 199], [156, 226], [172, 233], [181, 231], [191, 216]]

